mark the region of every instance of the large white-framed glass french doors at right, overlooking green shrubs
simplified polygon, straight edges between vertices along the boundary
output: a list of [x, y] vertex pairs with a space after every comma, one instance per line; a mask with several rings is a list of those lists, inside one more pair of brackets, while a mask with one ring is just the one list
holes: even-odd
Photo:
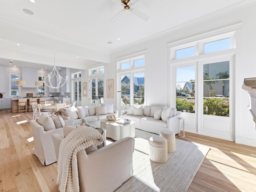
[[174, 76], [185, 130], [234, 140], [234, 57], [177, 64]]

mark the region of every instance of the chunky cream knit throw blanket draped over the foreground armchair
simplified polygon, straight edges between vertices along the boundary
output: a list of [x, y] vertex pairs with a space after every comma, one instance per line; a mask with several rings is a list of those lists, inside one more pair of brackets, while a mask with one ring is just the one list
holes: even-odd
[[78, 126], [60, 143], [58, 178], [60, 192], [79, 192], [77, 153], [104, 142], [102, 135], [91, 127]]

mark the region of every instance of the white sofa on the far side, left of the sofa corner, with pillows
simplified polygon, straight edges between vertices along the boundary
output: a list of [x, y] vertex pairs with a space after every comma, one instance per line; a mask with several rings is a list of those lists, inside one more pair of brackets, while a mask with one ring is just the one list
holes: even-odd
[[74, 124], [81, 124], [81, 119], [100, 127], [100, 120], [108, 115], [118, 116], [118, 110], [113, 108], [113, 104], [102, 104], [101, 106], [77, 106], [61, 109], [55, 114], [60, 114], [64, 120], [68, 117], [74, 120]]

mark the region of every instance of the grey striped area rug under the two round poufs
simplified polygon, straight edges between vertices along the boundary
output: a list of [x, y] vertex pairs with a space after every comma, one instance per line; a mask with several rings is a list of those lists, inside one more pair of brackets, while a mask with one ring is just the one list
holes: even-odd
[[149, 138], [159, 136], [136, 129], [133, 176], [115, 192], [186, 192], [209, 147], [176, 139], [176, 150], [160, 164], [149, 159]]

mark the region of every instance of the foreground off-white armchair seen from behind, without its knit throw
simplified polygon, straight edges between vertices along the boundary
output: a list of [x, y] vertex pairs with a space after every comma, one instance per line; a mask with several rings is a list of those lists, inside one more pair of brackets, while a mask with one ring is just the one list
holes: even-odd
[[[64, 139], [53, 134], [52, 139], [58, 158], [60, 142]], [[77, 154], [80, 192], [113, 192], [133, 173], [133, 139], [126, 137], [89, 154]], [[113, 174], [114, 173], [114, 174]]]

